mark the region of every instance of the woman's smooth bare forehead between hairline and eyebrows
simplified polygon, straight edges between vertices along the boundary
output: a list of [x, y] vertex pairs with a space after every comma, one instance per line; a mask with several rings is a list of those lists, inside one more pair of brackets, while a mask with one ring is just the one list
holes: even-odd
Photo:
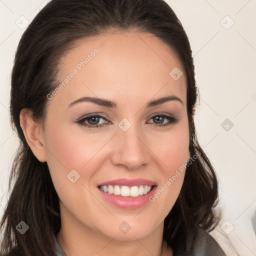
[[[173, 79], [173, 73], [183, 75]], [[59, 82], [64, 85], [55, 97], [59, 100], [89, 94], [135, 102], [142, 100], [141, 94], [148, 101], [154, 95], [173, 93], [186, 101], [181, 62], [167, 44], [149, 33], [109, 32], [77, 40], [61, 58]]]

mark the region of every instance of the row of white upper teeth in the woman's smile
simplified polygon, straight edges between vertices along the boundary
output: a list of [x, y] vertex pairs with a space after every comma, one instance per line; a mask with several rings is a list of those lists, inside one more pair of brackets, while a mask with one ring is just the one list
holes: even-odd
[[121, 195], [121, 196], [132, 196], [137, 197], [139, 195], [147, 194], [151, 186], [148, 185], [140, 185], [138, 186], [119, 186], [119, 185], [103, 185], [99, 187], [101, 191], [107, 192], [109, 194]]

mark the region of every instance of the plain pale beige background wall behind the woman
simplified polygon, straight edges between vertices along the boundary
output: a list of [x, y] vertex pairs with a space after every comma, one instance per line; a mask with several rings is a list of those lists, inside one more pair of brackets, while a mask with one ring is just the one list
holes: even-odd
[[[18, 145], [9, 124], [14, 53], [25, 26], [47, 2], [0, 0], [0, 216]], [[191, 43], [200, 92], [198, 139], [220, 180], [223, 218], [211, 234], [228, 256], [256, 255], [256, 0], [166, 2]]]

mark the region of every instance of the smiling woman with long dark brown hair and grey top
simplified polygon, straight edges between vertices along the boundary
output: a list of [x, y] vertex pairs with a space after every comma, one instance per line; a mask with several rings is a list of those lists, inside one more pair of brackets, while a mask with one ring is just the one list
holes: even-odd
[[[3, 255], [224, 255], [188, 38], [163, 0], [52, 0], [11, 76]], [[11, 237], [14, 235], [14, 242]]]

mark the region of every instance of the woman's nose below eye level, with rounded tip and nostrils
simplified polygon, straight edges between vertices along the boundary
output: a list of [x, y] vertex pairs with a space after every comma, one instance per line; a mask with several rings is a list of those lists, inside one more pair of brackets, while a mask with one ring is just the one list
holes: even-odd
[[127, 131], [118, 129], [112, 144], [111, 162], [134, 170], [150, 162], [150, 149], [145, 137], [131, 126]]

